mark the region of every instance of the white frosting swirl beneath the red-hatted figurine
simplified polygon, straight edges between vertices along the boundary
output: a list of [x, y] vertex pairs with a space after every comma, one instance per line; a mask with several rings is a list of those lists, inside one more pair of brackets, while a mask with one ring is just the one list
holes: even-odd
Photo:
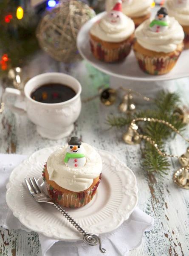
[[133, 34], [135, 24], [122, 12], [113, 11], [114, 15], [119, 16], [117, 21], [116, 17], [112, 18], [111, 13], [106, 13], [101, 20], [94, 23], [90, 33], [106, 42], [122, 42]]

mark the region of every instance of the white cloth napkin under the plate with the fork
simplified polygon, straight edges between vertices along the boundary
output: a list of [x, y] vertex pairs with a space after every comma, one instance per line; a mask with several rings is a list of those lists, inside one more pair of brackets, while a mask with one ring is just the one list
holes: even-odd
[[[24, 227], [14, 217], [6, 205], [6, 184], [11, 171], [20, 164], [26, 156], [17, 154], [0, 154], [0, 226], [6, 229], [22, 229], [31, 231]], [[154, 225], [154, 219], [141, 211], [138, 207], [130, 215], [121, 227], [112, 233], [102, 235], [102, 247], [107, 250], [106, 256], [126, 256], [130, 250], [137, 248], [145, 231], [150, 231]], [[64, 242], [51, 239], [39, 234], [43, 256], [101, 256], [98, 246], [89, 246], [83, 241]]]

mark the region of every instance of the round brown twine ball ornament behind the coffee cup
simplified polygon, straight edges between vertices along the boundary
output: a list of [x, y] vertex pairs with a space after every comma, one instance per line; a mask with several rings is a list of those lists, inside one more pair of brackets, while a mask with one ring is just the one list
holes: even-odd
[[40, 47], [56, 61], [70, 63], [81, 58], [76, 37], [95, 12], [81, 1], [64, 0], [47, 12], [37, 27]]

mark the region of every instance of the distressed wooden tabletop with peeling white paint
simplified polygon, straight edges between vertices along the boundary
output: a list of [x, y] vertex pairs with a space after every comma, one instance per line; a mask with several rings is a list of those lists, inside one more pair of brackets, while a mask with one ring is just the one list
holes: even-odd
[[[39, 52], [24, 69], [25, 77], [40, 73], [70, 73], [82, 84], [82, 98], [93, 96], [97, 88], [109, 82], [109, 76], [97, 71], [85, 61], [64, 66]], [[188, 79], [175, 81], [185, 105], [188, 101]], [[3, 88], [0, 87], [0, 95]], [[118, 113], [117, 107], [106, 108], [99, 99], [82, 105], [82, 113], [75, 123], [72, 136], [105, 149], [117, 155], [133, 170], [138, 182], [138, 207], [155, 218], [155, 227], [145, 233], [141, 246], [130, 252], [130, 256], [188, 256], [189, 255], [189, 191], [178, 188], [173, 183], [173, 173], [180, 168], [178, 160], [172, 160], [169, 175], [162, 178], [157, 174], [147, 174], [141, 166], [140, 146], [123, 143], [124, 129], [107, 131], [104, 125], [107, 114]], [[185, 132], [189, 137], [188, 129]], [[65, 144], [69, 137], [53, 141], [40, 137], [35, 125], [26, 117], [18, 116], [7, 108], [0, 114], [0, 153], [30, 155], [40, 148]], [[167, 142], [169, 154], [181, 155], [186, 151], [186, 142], [176, 137]], [[23, 230], [0, 228], [0, 255], [42, 256], [38, 234]], [[62, 252], [62, 255], [63, 252]]]

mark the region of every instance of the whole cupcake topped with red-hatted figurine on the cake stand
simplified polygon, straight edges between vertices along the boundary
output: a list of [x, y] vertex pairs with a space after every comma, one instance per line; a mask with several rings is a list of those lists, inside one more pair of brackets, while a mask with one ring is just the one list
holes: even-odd
[[122, 13], [121, 6], [121, 0], [118, 0], [112, 11], [90, 29], [91, 51], [100, 61], [123, 61], [130, 53], [135, 24]]

